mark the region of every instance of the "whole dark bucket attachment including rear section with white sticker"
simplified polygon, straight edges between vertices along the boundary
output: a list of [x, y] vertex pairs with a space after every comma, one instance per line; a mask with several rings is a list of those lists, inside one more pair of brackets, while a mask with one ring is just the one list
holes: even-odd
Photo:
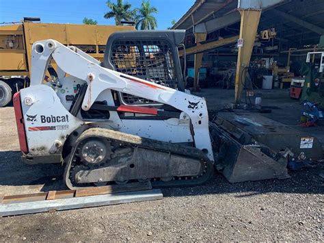
[[215, 166], [231, 183], [288, 178], [288, 162], [314, 161], [323, 152], [316, 138], [251, 112], [219, 112], [209, 129]]

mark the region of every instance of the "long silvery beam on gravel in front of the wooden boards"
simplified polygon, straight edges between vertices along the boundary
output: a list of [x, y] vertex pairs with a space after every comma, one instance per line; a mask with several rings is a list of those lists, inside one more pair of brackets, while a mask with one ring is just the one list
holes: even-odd
[[83, 207], [100, 207], [121, 203], [133, 203], [163, 199], [161, 190], [122, 192], [97, 196], [82, 196], [71, 199], [45, 200], [28, 203], [11, 203], [0, 205], [0, 216], [53, 212], [54, 210], [78, 209]]

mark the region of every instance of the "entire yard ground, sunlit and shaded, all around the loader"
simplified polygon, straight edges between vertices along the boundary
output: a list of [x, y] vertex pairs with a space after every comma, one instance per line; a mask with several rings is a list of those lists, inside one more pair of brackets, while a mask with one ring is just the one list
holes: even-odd
[[[299, 127], [301, 105], [287, 90], [260, 90], [265, 114], [324, 144], [324, 124]], [[208, 109], [232, 101], [233, 90], [206, 89]], [[0, 108], [0, 192], [66, 189], [59, 165], [23, 164], [12, 107]], [[324, 241], [320, 168], [290, 172], [291, 179], [230, 184], [218, 173], [204, 186], [163, 189], [161, 201], [0, 218], [8, 241]]]

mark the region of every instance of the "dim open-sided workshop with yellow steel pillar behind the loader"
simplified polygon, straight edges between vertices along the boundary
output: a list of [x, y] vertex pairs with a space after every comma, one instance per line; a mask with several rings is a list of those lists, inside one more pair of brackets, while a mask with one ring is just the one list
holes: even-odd
[[323, 17], [320, 0], [195, 1], [172, 27], [186, 29], [187, 88], [212, 116], [233, 107], [262, 113], [323, 146]]

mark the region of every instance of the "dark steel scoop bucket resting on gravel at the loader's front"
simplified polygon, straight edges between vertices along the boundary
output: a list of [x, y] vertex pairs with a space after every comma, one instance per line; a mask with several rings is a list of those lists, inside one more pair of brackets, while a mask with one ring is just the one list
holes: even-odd
[[215, 124], [210, 127], [216, 150], [215, 166], [230, 183], [290, 177], [287, 162], [276, 157], [266, 146], [240, 144]]

